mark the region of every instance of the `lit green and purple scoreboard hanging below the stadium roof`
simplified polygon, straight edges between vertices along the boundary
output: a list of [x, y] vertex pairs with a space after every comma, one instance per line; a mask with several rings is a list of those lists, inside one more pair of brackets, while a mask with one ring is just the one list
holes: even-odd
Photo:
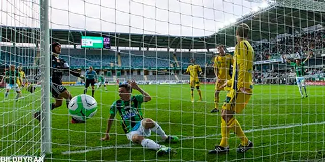
[[81, 48], [111, 49], [111, 39], [109, 37], [82, 36]]

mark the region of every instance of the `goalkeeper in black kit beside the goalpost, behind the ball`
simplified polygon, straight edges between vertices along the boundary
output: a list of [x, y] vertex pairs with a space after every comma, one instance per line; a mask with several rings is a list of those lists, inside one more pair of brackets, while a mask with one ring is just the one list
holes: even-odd
[[[72, 99], [70, 92], [62, 85], [62, 77], [64, 71], [69, 71], [70, 74], [80, 77], [84, 80], [84, 77], [77, 71], [71, 69], [66, 61], [59, 58], [61, 53], [61, 44], [53, 42], [51, 45], [52, 58], [51, 58], [51, 71], [50, 71], [50, 82], [51, 82], [51, 93], [52, 97], [55, 98], [55, 103], [51, 104], [51, 110], [56, 107], [60, 107], [63, 102], [63, 98], [66, 100], [66, 106], [68, 108], [69, 101]], [[34, 114], [34, 118], [41, 121], [41, 112], [38, 111]], [[72, 117], [71, 123], [84, 123], [84, 121], [77, 120]]]

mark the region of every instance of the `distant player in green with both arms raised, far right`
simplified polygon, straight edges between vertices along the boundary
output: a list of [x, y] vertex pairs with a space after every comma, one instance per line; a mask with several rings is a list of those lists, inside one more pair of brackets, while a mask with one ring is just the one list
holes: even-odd
[[301, 87], [304, 88], [305, 90], [305, 97], [308, 97], [307, 95], [307, 90], [306, 90], [306, 84], [305, 84], [305, 70], [304, 70], [304, 65], [306, 63], [306, 61], [310, 58], [310, 54], [307, 56], [307, 58], [301, 62], [300, 59], [296, 59], [296, 63], [291, 62], [290, 60], [286, 59], [286, 56], [283, 55], [283, 58], [286, 60], [286, 62], [288, 62], [290, 65], [294, 66], [295, 71], [296, 71], [296, 82], [297, 82], [297, 86], [301, 95], [301, 98], [304, 98], [304, 94], [303, 91], [301, 90]]

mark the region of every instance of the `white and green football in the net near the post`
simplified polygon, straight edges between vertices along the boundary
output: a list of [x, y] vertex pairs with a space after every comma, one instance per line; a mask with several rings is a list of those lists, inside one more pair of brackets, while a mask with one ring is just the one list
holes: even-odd
[[97, 101], [89, 95], [77, 95], [69, 102], [69, 114], [77, 120], [85, 121], [93, 117], [97, 110]]

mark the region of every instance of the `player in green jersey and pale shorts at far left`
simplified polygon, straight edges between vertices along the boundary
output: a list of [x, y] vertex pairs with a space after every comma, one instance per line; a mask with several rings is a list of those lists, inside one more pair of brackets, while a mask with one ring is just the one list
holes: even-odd
[[5, 100], [8, 98], [9, 92], [11, 89], [15, 89], [17, 95], [16, 95], [16, 101], [21, 97], [21, 90], [17, 84], [17, 79], [20, 83], [22, 83], [20, 73], [16, 70], [15, 65], [10, 65], [10, 69], [6, 71], [5, 76], [2, 78], [0, 84], [4, 82], [4, 79], [6, 80], [6, 92], [5, 92]]

